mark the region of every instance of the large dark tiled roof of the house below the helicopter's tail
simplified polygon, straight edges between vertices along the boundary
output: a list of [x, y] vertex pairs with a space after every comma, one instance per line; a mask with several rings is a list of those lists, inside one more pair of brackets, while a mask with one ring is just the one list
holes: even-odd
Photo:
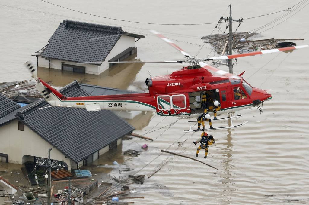
[[[80, 89], [77, 81], [59, 90], [67, 97], [89, 95]], [[40, 99], [20, 109], [16, 117], [43, 139], [74, 162], [102, 149], [134, 130], [129, 123], [112, 111], [86, 111], [86, 109], [47, 107]]]

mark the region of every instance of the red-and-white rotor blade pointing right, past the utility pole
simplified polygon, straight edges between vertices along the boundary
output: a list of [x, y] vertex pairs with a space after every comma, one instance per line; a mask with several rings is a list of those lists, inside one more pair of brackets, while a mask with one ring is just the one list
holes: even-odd
[[262, 54], [266, 54], [266, 53], [275, 53], [275, 52], [280, 52], [280, 51], [289, 51], [289, 50], [295, 50], [295, 49], [306, 48], [306, 47], [308, 47], [308, 45], [290, 46], [290, 47], [285, 47], [285, 48], [276, 48], [276, 49], [270, 49], [270, 50], [254, 51], [254, 52], [250, 52], [250, 53], [242, 53], [242, 54], [234, 54], [234, 55], [223, 55], [223, 56], [218, 56], [218, 57], [213, 57], [213, 58], [207, 58], [207, 60], [223, 60], [223, 59], [240, 58], [240, 57], [245, 57], [245, 56], [250, 56], [250, 55], [262, 55]]

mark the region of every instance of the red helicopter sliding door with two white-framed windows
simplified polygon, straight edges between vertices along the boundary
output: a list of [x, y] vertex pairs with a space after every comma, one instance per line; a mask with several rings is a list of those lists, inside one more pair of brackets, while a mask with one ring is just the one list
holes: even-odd
[[188, 115], [190, 114], [188, 93], [158, 94], [156, 95], [157, 114]]

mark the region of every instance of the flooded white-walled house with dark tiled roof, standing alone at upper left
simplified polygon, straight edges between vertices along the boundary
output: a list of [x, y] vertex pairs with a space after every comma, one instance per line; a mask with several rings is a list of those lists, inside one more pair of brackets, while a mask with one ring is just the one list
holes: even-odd
[[137, 52], [135, 42], [140, 38], [145, 36], [121, 27], [63, 20], [49, 44], [32, 55], [38, 67], [100, 74], [112, 64], [95, 62], [122, 61]]

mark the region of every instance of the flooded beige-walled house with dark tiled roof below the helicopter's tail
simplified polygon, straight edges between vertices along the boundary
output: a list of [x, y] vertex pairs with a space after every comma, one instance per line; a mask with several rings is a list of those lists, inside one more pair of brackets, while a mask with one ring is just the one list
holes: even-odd
[[[89, 95], [77, 81], [59, 92], [68, 97]], [[51, 159], [70, 171], [98, 159], [134, 130], [112, 111], [49, 107], [44, 99], [20, 107], [0, 94], [0, 111], [2, 162], [34, 162], [52, 147]]]

